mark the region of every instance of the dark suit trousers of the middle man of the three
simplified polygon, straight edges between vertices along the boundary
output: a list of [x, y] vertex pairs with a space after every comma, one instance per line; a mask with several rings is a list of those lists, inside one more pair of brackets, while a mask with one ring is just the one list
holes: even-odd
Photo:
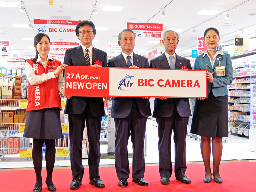
[[147, 117], [141, 115], [134, 99], [132, 109], [125, 118], [114, 118], [116, 126], [115, 165], [118, 179], [128, 179], [130, 174], [128, 161], [128, 140], [131, 133], [132, 141], [132, 178], [144, 177], [144, 139]]

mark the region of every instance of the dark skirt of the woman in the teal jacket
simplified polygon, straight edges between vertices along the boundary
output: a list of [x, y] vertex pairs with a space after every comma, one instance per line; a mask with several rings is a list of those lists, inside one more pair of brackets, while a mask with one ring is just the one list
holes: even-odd
[[228, 137], [228, 95], [195, 101], [190, 133], [204, 137]]

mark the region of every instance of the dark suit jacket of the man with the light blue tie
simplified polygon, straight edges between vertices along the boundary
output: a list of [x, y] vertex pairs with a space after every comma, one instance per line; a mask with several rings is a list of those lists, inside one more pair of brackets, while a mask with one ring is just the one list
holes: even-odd
[[[176, 54], [175, 69], [180, 69], [182, 66], [186, 66], [188, 69], [192, 69], [188, 59], [185, 59]], [[149, 68], [171, 69], [164, 53], [155, 59], [150, 60]], [[160, 100], [159, 98], [155, 98], [153, 117], [172, 116], [174, 106], [176, 106], [177, 111], [181, 117], [191, 116], [188, 99], [167, 98], [165, 100]]]

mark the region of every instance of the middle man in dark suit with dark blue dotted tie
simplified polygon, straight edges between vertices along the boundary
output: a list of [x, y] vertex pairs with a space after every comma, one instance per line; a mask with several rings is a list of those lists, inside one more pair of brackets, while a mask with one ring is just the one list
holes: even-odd
[[[118, 35], [118, 44], [122, 53], [108, 60], [108, 67], [149, 68], [148, 59], [133, 53], [135, 35], [130, 29], [124, 29]], [[119, 179], [118, 186], [126, 187], [129, 178], [128, 139], [132, 139], [132, 181], [148, 186], [143, 179], [145, 172], [144, 138], [148, 116], [151, 116], [149, 98], [113, 97], [111, 117], [116, 126], [115, 165]]]

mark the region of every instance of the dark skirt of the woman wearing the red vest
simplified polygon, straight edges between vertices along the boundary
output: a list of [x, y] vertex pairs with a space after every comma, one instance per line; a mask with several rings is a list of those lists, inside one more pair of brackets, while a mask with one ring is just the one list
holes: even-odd
[[60, 108], [28, 111], [23, 137], [52, 140], [62, 138]]

